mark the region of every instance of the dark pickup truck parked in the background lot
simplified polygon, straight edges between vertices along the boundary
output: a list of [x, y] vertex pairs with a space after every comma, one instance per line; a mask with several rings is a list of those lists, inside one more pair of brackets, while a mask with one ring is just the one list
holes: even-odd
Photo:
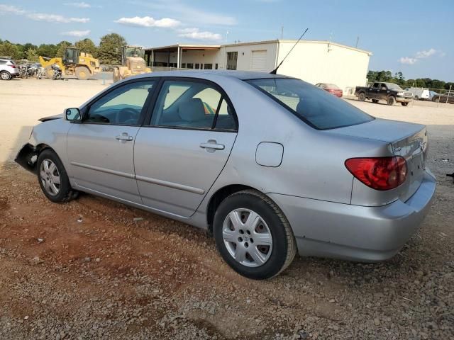
[[407, 106], [413, 98], [411, 92], [404, 91], [399, 85], [382, 81], [375, 81], [371, 86], [356, 86], [355, 96], [358, 97], [359, 101], [372, 99], [373, 103], [386, 101], [388, 105], [394, 105], [398, 102], [402, 106]]

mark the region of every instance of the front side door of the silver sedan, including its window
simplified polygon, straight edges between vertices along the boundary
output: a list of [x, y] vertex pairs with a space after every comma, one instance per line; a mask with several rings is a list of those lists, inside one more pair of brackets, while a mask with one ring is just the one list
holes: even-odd
[[116, 87], [87, 107], [67, 135], [70, 176], [77, 186], [142, 203], [134, 174], [134, 140], [148, 109], [154, 80]]

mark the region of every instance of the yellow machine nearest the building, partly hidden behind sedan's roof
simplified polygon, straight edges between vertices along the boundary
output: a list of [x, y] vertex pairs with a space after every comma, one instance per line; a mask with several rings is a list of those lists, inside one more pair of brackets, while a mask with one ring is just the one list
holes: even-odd
[[142, 47], [121, 47], [121, 66], [114, 68], [114, 82], [127, 77], [151, 72], [145, 63], [145, 51]]

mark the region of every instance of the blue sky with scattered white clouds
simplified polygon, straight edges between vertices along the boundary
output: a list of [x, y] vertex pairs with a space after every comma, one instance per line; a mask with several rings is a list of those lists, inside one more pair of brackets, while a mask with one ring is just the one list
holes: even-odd
[[[375, 5], [375, 6], [372, 6]], [[377, 6], [378, 5], [378, 6]], [[369, 69], [454, 81], [454, 1], [0, 0], [0, 39], [57, 43], [119, 33], [131, 45], [331, 40], [373, 53]]]

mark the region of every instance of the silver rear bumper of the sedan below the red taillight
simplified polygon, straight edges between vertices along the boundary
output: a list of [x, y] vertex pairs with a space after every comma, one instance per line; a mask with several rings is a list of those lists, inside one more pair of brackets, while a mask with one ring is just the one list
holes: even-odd
[[417, 231], [431, 206], [435, 177], [426, 171], [411, 198], [365, 207], [272, 193], [292, 226], [301, 256], [375, 262], [391, 258]]

